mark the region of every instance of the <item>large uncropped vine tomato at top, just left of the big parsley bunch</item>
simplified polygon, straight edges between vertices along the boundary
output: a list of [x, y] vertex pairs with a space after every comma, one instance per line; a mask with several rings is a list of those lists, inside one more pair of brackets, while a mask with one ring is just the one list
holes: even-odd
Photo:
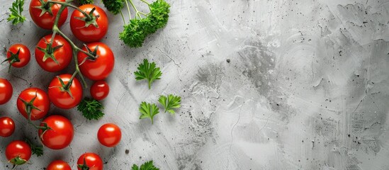
[[[86, 16], [80, 11], [74, 10], [70, 17], [70, 28], [72, 29], [73, 35], [84, 42], [96, 42], [101, 40], [108, 31], [108, 17], [106, 12], [104, 12], [102, 8], [91, 4], [86, 4], [79, 8], [82, 11], [89, 13], [92, 20], [83, 21], [83, 19], [80, 18], [86, 19]], [[92, 14], [90, 12], [93, 8], [96, 8], [96, 10]]]

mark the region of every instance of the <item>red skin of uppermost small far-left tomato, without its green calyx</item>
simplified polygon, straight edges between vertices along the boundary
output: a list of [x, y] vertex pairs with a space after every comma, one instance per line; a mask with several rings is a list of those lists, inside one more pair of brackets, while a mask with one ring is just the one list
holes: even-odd
[[[31, 53], [30, 53], [30, 50], [28, 49], [28, 47], [26, 45], [22, 45], [22, 44], [14, 44], [14, 45], [11, 45], [11, 47], [9, 47], [9, 50], [7, 52], [7, 58], [11, 57], [11, 52], [13, 54], [16, 54], [18, 53], [18, 50], [19, 51], [19, 55], [18, 55], [18, 58], [19, 58], [19, 62], [13, 62], [12, 63], [12, 66], [13, 67], [25, 67], [28, 62], [30, 62], [30, 58], [31, 58]], [[11, 61], [9, 61], [11, 62]]]

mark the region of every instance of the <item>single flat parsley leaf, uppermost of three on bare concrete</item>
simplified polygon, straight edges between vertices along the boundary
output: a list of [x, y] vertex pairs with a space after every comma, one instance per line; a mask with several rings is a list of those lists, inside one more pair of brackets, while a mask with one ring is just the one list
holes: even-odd
[[162, 72], [159, 71], [159, 67], [156, 67], [155, 62], [150, 63], [149, 60], [143, 60], [142, 64], [137, 67], [138, 71], [134, 72], [136, 80], [147, 79], [149, 81], [149, 89], [153, 81], [161, 79]]

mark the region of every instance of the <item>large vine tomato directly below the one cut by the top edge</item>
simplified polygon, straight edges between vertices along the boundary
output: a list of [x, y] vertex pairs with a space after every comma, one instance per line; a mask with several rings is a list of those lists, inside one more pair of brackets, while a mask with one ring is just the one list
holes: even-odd
[[[45, 69], [47, 72], [59, 72], [66, 68], [72, 61], [72, 46], [69, 45], [69, 42], [62, 38], [61, 35], [55, 35], [54, 41], [52, 42], [52, 48], [60, 47], [60, 45], [63, 46], [57, 50], [52, 48], [50, 49], [50, 47], [47, 47], [47, 45], [49, 42], [51, 42], [51, 38], [52, 35], [50, 34], [40, 39], [37, 47], [35, 48], [35, 60], [38, 62], [39, 66], [42, 67], [42, 69]], [[50, 55], [45, 57], [45, 52], [39, 50], [38, 47], [47, 50], [47, 54], [49, 54], [50, 51], [53, 51], [51, 52], [51, 55], [55, 58], [55, 60], [57, 60], [58, 63], [56, 63], [52, 57], [49, 57]]]

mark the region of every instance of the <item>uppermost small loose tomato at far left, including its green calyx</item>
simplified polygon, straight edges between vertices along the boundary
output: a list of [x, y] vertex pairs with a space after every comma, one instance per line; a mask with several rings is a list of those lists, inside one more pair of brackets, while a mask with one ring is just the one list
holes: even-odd
[[7, 61], [13, 67], [25, 67], [30, 62], [30, 57], [30, 50], [22, 44], [11, 45], [7, 52]]

